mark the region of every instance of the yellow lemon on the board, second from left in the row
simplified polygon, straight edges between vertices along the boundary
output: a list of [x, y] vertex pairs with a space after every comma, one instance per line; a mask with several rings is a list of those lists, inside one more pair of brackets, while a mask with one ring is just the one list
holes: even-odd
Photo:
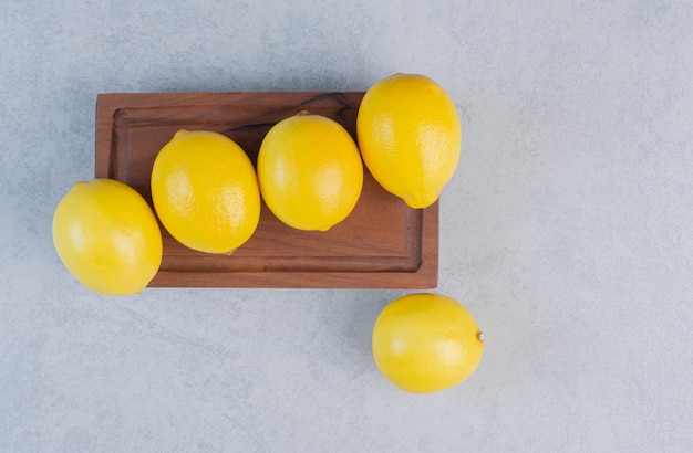
[[192, 250], [231, 253], [260, 221], [252, 162], [223, 134], [178, 130], [156, 155], [151, 185], [162, 224]]

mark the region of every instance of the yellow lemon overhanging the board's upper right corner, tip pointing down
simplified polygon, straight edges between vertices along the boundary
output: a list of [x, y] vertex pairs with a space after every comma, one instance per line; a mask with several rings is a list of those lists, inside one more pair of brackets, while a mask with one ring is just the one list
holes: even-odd
[[394, 74], [371, 86], [359, 106], [356, 136], [373, 178], [414, 209], [439, 198], [459, 160], [455, 104], [420, 74]]

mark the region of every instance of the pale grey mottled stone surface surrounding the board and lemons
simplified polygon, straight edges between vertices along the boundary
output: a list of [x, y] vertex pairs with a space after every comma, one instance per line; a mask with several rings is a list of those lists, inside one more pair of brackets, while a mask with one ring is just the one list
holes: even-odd
[[[693, 3], [3, 0], [0, 451], [693, 451]], [[403, 291], [106, 298], [53, 251], [102, 92], [437, 80], [465, 140], [438, 292], [486, 331], [431, 396], [370, 355]]]

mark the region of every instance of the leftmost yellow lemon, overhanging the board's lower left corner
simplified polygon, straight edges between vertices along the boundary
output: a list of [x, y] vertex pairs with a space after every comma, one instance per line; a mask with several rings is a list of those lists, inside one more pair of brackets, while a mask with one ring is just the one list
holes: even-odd
[[102, 295], [139, 293], [162, 263], [162, 232], [152, 208], [116, 180], [74, 185], [55, 208], [52, 230], [65, 267]]

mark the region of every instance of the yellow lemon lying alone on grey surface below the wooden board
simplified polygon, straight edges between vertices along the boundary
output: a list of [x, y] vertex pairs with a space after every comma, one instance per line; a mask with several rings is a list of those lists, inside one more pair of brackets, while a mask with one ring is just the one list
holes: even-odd
[[431, 393], [467, 379], [478, 367], [484, 335], [455, 299], [410, 294], [390, 303], [373, 327], [373, 358], [402, 390]]

